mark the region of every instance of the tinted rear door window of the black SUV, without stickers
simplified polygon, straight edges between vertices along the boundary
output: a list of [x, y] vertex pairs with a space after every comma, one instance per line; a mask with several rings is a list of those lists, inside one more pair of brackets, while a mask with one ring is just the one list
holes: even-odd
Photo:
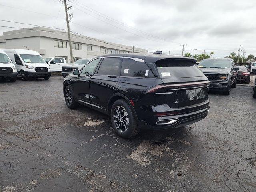
[[119, 57], [103, 58], [98, 75], [120, 75], [120, 61]]

